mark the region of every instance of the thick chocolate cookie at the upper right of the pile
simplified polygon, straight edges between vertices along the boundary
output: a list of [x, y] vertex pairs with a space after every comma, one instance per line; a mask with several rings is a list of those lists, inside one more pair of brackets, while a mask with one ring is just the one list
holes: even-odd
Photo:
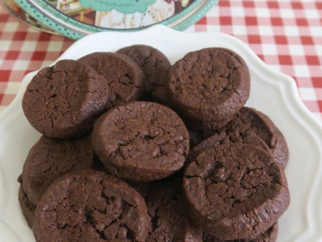
[[170, 104], [198, 130], [224, 126], [250, 93], [245, 67], [220, 48], [188, 53], [169, 71]]

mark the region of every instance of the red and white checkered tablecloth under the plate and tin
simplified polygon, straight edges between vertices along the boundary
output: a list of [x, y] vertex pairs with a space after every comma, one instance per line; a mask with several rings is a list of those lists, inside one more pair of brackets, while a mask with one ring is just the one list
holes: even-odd
[[[186, 31], [241, 39], [268, 65], [292, 76], [305, 105], [322, 120], [322, 0], [220, 0]], [[53, 62], [72, 43], [18, 22], [0, 4], [0, 112], [26, 73]]]

